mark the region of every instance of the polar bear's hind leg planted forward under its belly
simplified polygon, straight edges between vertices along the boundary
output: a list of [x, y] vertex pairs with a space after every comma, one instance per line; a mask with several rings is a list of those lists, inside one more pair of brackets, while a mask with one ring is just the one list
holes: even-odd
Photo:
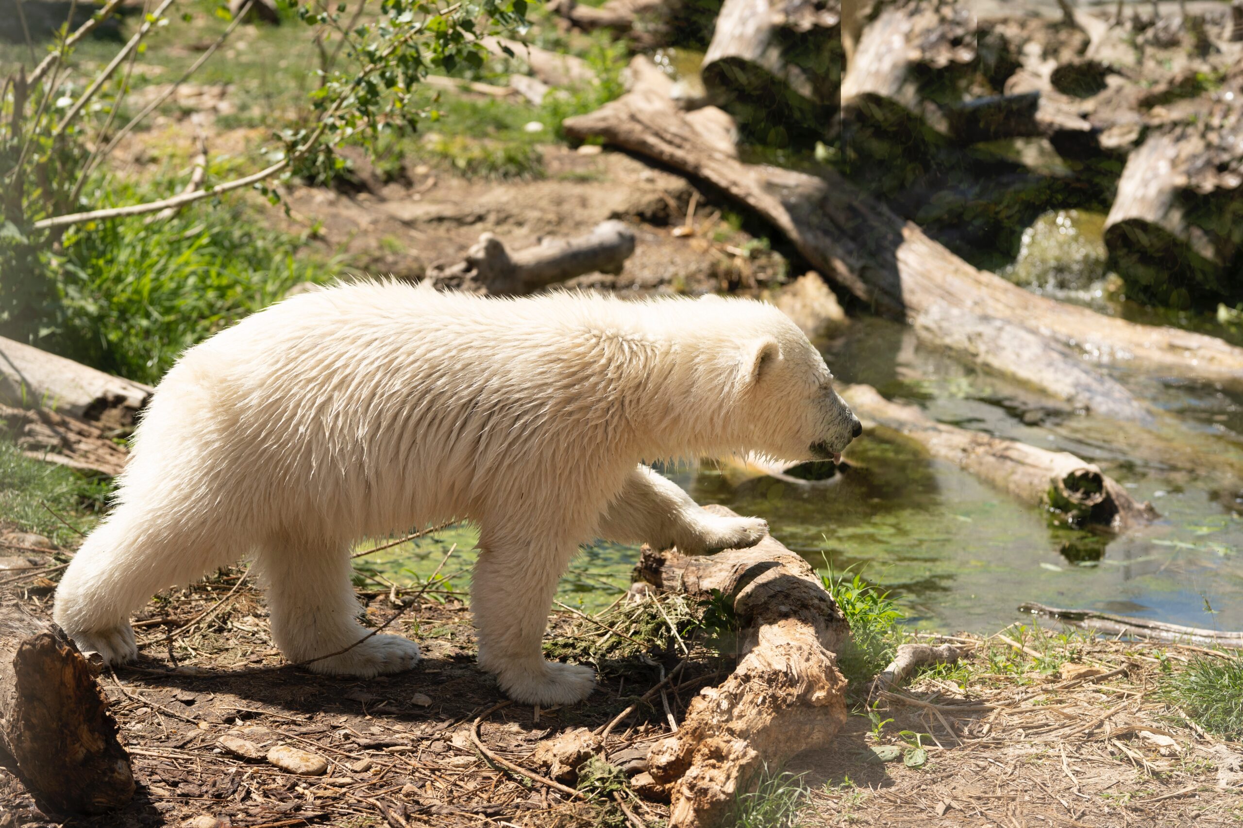
[[272, 642], [295, 664], [310, 660], [306, 667], [314, 673], [363, 679], [418, 664], [419, 646], [413, 641], [372, 636], [358, 623], [360, 608], [351, 585], [348, 547], [323, 541], [268, 541], [256, 565], [267, 587]]

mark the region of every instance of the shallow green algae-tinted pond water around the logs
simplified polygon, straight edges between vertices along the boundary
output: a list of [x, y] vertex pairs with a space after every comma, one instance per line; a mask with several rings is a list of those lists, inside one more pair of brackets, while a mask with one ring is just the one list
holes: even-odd
[[[1007, 278], [1034, 292], [1135, 317], [1110, 304], [1100, 216], [1057, 211], [1024, 236]], [[1161, 318], [1236, 339], [1193, 318]], [[940, 422], [1069, 451], [1149, 500], [1154, 525], [1112, 536], [1052, 515], [927, 457], [895, 434], [869, 433], [832, 483], [771, 478], [731, 484], [712, 463], [665, 469], [697, 502], [768, 520], [772, 534], [823, 572], [860, 572], [892, 591], [907, 622], [993, 632], [1023, 619], [1019, 603], [1089, 608], [1217, 629], [1243, 629], [1243, 390], [1108, 370], [1157, 412], [1151, 428], [1099, 420], [919, 343], [902, 325], [858, 319], [822, 344], [842, 382], [866, 382]], [[447, 550], [449, 590], [469, 588], [477, 533], [439, 533], [359, 559], [362, 574], [411, 583]], [[365, 549], [362, 546], [360, 549]], [[630, 582], [638, 549], [597, 542], [562, 578], [558, 600], [595, 610]], [[383, 586], [375, 581], [373, 586]], [[1029, 617], [1028, 617], [1029, 618]]]

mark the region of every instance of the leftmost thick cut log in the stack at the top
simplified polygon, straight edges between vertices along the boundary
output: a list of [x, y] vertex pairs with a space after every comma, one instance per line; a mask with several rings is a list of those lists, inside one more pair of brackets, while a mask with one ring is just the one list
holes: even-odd
[[752, 127], [823, 125], [842, 78], [839, 0], [725, 0], [704, 55], [709, 99]]

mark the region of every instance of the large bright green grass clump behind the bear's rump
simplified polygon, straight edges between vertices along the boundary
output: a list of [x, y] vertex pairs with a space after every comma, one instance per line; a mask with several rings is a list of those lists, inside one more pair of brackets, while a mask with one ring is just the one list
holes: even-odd
[[[101, 206], [170, 187], [106, 185]], [[66, 233], [48, 278], [58, 303], [40, 348], [111, 374], [157, 382], [178, 354], [298, 282], [324, 282], [326, 262], [296, 258], [306, 242], [264, 225], [240, 200], [209, 201], [147, 223], [89, 222]]]

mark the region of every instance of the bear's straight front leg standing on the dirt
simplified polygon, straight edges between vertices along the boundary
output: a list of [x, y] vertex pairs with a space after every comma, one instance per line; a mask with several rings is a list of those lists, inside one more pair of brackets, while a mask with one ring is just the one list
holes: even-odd
[[480, 539], [471, 580], [479, 665], [515, 701], [574, 704], [595, 688], [592, 668], [546, 662], [541, 647], [557, 581], [577, 550], [576, 542], [539, 549], [490, 541], [486, 533]]

